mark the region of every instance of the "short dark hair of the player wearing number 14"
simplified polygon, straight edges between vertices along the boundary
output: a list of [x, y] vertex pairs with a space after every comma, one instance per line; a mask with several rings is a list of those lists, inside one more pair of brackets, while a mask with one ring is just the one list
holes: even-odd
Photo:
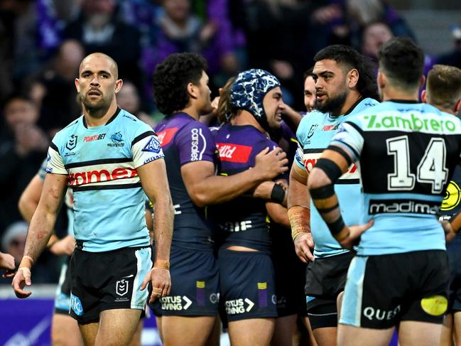
[[423, 75], [424, 54], [413, 40], [396, 37], [381, 45], [379, 68], [397, 87], [416, 87]]

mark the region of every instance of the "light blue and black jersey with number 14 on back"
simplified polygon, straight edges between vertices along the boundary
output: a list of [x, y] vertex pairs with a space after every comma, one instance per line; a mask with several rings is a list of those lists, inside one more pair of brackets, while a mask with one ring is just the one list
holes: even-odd
[[460, 163], [460, 119], [428, 104], [384, 102], [347, 119], [332, 144], [359, 160], [360, 223], [374, 220], [359, 255], [445, 249], [438, 212]]

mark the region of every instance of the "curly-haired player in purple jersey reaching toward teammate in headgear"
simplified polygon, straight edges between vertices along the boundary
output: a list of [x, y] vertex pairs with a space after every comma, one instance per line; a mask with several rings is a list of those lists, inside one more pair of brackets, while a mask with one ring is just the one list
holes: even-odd
[[[161, 298], [163, 342], [205, 345], [215, 323], [219, 271], [207, 205], [227, 202], [287, 171], [280, 148], [261, 147], [254, 169], [217, 176], [217, 150], [200, 116], [212, 111], [205, 60], [193, 53], [170, 55], [153, 75], [154, 99], [166, 119], [156, 126], [168, 165], [175, 220], [171, 277]], [[271, 148], [272, 149], [272, 148]], [[268, 198], [270, 197], [269, 190]], [[155, 205], [154, 205], [155, 207]]]

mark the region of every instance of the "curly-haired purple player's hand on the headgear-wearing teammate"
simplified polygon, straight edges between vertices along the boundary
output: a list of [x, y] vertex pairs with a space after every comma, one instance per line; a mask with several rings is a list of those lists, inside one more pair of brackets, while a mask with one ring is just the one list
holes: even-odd
[[269, 148], [263, 149], [256, 155], [254, 162], [253, 169], [263, 180], [271, 180], [288, 171], [288, 159], [281, 148], [275, 148], [272, 151], [269, 151]]

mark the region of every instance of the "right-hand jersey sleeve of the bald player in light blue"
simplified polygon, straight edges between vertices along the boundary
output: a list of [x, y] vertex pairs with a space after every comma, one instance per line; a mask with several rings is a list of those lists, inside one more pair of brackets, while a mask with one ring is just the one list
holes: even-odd
[[134, 168], [165, 157], [157, 134], [147, 124], [144, 125], [140, 126], [137, 135], [131, 141]]

